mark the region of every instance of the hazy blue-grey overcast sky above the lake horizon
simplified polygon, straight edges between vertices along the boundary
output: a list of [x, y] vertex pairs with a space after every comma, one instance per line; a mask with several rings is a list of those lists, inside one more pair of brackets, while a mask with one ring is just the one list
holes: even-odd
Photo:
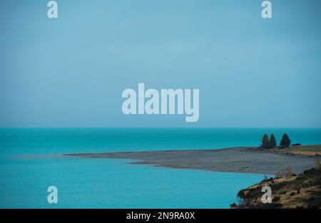
[[[0, 127], [321, 128], [321, 1], [0, 0]], [[200, 118], [124, 115], [200, 89]]]

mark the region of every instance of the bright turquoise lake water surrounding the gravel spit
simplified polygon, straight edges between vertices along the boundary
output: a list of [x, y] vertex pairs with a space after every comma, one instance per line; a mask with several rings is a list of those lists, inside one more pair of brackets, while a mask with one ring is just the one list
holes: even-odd
[[[321, 129], [0, 129], [0, 207], [229, 208], [238, 190], [263, 180], [263, 175], [62, 154], [257, 146], [264, 133], [274, 133], [278, 142], [287, 133], [293, 143], [321, 144]], [[58, 188], [58, 204], [47, 202], [51, 185]]]

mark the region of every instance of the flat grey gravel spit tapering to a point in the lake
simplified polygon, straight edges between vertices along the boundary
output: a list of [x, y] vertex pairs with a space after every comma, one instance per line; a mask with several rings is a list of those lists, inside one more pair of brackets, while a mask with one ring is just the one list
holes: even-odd
[[66, 154], [85, 158], [135, 160], [131, 164], [154, 165], [180, 169], [209, 170], [274, 175], [292, 167], [295, 173], [314, 167], [316, 157], [287, 155], [256, 150], [253, 147], [231, 147], [220, 150], [167, 150], [149, 152], [101, 152]]

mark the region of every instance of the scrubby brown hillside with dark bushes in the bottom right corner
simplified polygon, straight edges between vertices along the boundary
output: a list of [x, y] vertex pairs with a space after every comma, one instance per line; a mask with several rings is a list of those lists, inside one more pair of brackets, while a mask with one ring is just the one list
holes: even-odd
[[[272, 203], [263, 204], [262, 187], [272, 189]], [[306, 170], [302, 175], [263, 180], [238, 192], [240, 204], [232, 208], [321, 208], [321, 167]]]

